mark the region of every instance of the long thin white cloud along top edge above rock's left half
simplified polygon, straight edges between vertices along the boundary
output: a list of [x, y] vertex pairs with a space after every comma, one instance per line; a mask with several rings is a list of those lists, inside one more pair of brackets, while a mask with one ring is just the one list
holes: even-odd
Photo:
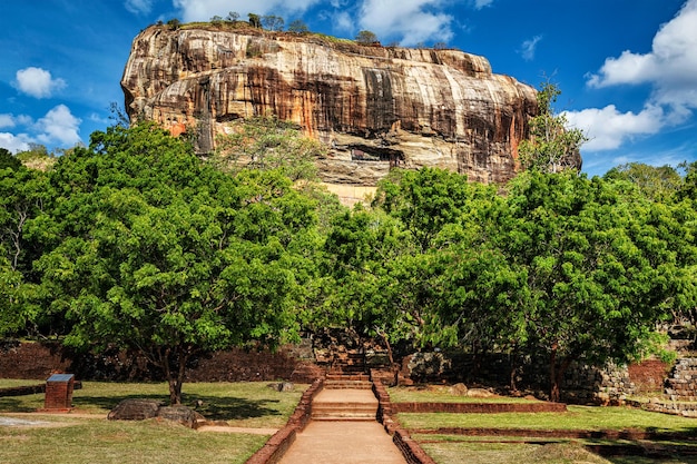
[[302, 12], [307, 10], [320, 0], [173, 0], [175, 8], [181, 11], [185, 22], [208, 21], [214, 16], [225, 18], [228, 12], [236, 11], [240, 19], [246, 19], [248, 13], [257, 14], [283, 14]]

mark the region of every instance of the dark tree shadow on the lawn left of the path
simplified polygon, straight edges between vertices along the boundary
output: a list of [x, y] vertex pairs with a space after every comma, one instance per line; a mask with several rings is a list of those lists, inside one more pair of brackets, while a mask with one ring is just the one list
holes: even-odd
[[[155, 399], [165, 404], [169, 398], [163, 395], [120, 395], [120, 396], [80, 396], [72, 398], [72, 406], [76, 408], [101, 408], [110, 411], [124, 399]], [[258, 418], [267, 416], [279, 416], [282, 411], [277, 399], [247, 399], [237, 397], [220, 397], [205, 395], [181, 396], [181, 404], [189, 406], [204, 415], [209, 421], [232, 421], [245, 418]], [[1, 407], [1, 406], [0, 406]], [[18, 409], [13, 409], [18, 411]], [[20, 411], [18, 411], [20, 412]]]

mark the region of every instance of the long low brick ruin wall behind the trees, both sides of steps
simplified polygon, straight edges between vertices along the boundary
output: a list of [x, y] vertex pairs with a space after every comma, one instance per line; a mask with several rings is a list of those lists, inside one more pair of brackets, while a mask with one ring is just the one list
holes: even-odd
[[[423, 356], [423, 355], [422, 355]], [[402, 363], [401, 382], [463, 382], [467, 385], [505, 387], [511, 382], [512, 361], [508, 356], [423, 356], [426, 362]], [[440, 358], [440, 359], [439, 359]], [[289, 379], [311, 383], [322, 374], [312, 347], [286, 347], [276, 353], [233, 349], [200, 357], [187, 369], [187, 382], [239, 382]], [[521, 389], [547, 392], [548, 368], [543, 363], [519, 363], [514, 379]], [[697, 401], [697, 359], [678, 359], [668, 375], [660, 361], [598, 369], [572, 365], [562, 384], [562, 401], [569, 403], [616, 404], [627, 396], [644, 394], [671, 401]], [[16, 343], [0, 347], [0, 378], [45, 381], [56, 372], [70, 372], [78, 379], [161, 381], [147, 359], [124, 352], [100, 356], [77, 356], [56, 343]], [[668, 377], [666, 379], [666, 377]]]

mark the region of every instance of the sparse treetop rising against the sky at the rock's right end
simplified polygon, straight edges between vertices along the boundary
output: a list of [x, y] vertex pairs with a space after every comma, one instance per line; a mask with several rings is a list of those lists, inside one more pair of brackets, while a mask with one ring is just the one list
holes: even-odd
[[524, 169], [559, 172], [580, 167], [579, 149], [587, 138], [580, 129], [567, 127], [566, 116], [554, 111], [552, 105], [560, 93], [550, 82], [544, 82], [537, 93], [538, 116], [530, 120], [530, 137], [518, 148]]

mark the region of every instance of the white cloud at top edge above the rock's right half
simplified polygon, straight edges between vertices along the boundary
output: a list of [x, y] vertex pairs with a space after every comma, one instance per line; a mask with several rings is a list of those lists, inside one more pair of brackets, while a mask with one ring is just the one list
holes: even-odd
[[359, 23], [379, 39], [400, 37], [403, 46], [428, 41], [448, 42], [453, 37], [453, 17], [442, 12], [445, 0], [365, 0]]

